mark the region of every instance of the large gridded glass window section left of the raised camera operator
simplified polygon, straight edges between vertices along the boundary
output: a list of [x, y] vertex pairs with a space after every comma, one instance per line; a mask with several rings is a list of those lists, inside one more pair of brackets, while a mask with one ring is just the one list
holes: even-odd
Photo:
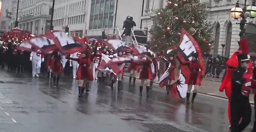
[[113, 27], [115, 0], [92, 0], [89, 29]]

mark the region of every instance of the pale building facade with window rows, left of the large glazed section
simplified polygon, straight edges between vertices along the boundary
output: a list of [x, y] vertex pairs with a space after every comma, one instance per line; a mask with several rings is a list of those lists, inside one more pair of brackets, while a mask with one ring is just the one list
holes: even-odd
[[55, 0], [54, 30], [69, 27], [72, 36], [83, 37], [86, 34], [87, 0]]

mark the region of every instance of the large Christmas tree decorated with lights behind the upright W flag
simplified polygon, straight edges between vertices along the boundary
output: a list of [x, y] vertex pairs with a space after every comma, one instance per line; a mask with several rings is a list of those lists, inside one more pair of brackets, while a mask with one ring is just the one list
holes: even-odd
[[161, 52], [178, 44], [180, 31], [185, 29], [197, 41], [202, 52], [212, 45], [212, 25], [206, 21], [205, 4], [198, 0], [168, 0], [165, 8], [157, 12], [158, 26], [154, 28], [151, 49]]

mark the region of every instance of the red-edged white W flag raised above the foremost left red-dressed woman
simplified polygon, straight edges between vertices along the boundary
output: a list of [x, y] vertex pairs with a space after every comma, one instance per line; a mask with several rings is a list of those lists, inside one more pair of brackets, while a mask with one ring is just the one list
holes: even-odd
[[52, 39], [59, 50], [65, 55], [86, 50], [82, 47], [81, 43], [78, 43], [73, 37], [63, 31], [47, 32], [47, 38]]

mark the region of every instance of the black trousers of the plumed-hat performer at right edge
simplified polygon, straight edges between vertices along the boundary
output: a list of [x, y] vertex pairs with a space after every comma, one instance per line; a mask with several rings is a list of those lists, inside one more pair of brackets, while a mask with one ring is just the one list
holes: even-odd
[[[230, 100], [231, 132], [243, 131], [251, 122], [252, 110], [249, 98]], [[241, 122], [239, 123], [239, 121]]]

